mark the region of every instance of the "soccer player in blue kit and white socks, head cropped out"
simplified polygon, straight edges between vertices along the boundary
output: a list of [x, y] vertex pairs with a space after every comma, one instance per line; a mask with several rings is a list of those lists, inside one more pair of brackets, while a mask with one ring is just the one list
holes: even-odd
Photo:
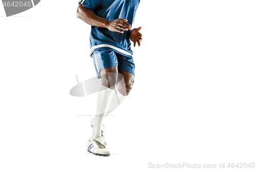
[[[90, 56], [101, 78], [96, 112], [91, 120], [93, 133], [87, 150], [94, 155], [109, 156], [104, 141], [103, 120], [132, 89], [135, 64], [131, 41], [140, 46], [141, 27], [131, 30], [140, 0], [80, 0], [77, 17], [92, 26]], [[131, 40], [131, 41], [130, 41]], [[82, 46], [82, 45], [81, 45]], [[115, 101], [118, 104], [114, 104]]]

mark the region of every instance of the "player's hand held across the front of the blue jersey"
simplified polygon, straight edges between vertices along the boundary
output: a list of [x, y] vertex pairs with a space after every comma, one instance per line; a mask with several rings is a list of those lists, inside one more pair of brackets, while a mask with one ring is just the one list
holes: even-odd
[[110, 31], [123, 33], [123, 31], [131, 30], [131, 25], [127, 23], [127, 19], [124, 18], [118, 18], [115, 20], [110, 20], [106, 28], [108, 28]]

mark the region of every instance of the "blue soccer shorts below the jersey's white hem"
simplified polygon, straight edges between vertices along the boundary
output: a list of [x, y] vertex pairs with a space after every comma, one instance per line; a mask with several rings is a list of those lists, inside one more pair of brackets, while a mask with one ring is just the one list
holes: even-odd
[[117, 52], [114, 52], [110, 48], [103, 48], [101, 50], [94, 51], [91, 57], [93, 58], [98, 78], [101, 77], [99, 70], [113, 66], [117, 66], [118, 70], [129, 71], [135, 75], [135, 64], [133, 57], [121, 55]]

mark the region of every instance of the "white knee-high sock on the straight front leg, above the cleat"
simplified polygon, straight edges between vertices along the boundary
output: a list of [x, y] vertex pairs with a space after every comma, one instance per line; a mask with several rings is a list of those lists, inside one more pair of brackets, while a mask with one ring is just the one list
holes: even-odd
[[101, 91], [98, 94], [97, 104], [96, 104], [96, 112], [94, 116], [94, 124], [93, 124], [93, 133], [91, 140], [96, 137], [101, 137], [101, 129], [103, 120], [105, 118], [105, 114], [108, 111], [108, 107], [111, 101], [111, 96], [114, 93], [114, 90], [107, 88], [105, 86], [101, 86]]

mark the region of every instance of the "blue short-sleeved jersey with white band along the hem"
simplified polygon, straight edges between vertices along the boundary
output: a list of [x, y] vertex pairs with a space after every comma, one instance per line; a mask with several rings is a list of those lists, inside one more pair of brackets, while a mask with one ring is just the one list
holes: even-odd
[[[140, 0], [80, 0], [82, 5], [91, 9], [97, 16], [114, 20], [127, 19], [132, 25]], [[115, 52], [132, 56], [130, 30], [124, 33], [112, 32], [107, 28], [92, 26], [90, 35], [91, 53], [102, 48], [111, 48]]]

